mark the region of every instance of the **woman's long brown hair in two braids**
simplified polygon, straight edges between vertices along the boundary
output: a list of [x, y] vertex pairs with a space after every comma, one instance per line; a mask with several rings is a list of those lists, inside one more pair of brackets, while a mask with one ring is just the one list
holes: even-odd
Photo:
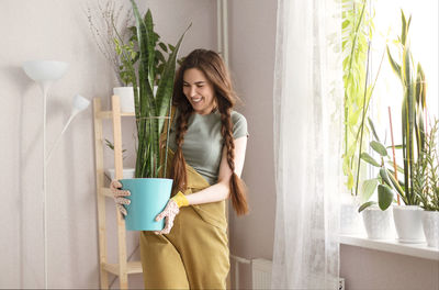
[[185, 161], [182, 153], [184, 134], [188, 131], [188, 120], [193, 113], [192, 105], [183, 94], [183, 75], [187, 69], [196, 68], [201, 70], [213, 85], [215, 102], [221, 113], [224, 145], [227, 146], [227, 164], [232, 169], [229, 183], [232, 204], [238, 215], [248, 213], [247, 188], [243, 179], [235, 174], [235, 144], [233, 138], [232, 109], [239, 101], [232, 87], [229, 74], [221, 56], [212, 51], [195, 49], [190, 53], [181, 64], [176, 75], [173, 85], [173, 104], [179, 110], [177, 118], [176, 143], [177, 150], [172, 160], [171, 177], [173, 187], [178, 190], [187, 189], [188, 177], [185, 174]]

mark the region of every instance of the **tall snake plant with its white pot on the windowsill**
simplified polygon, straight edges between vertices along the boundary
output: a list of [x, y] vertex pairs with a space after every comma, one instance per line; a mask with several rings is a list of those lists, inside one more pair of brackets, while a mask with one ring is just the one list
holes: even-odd
[[418, 64], [414, 71], [408, 40], [408, 29], [412, 16], [406, 21], [402, 14], [402, 33], [397, 40], [402, 55], [401, 64], [396, 63], [387, 46], [390, 64], [403, 85], [404, 98], [402, 108], [402, 150], [404, 158], [404, 182], [395, 182], [395, 189], [401, 196], [405, 207], [394, 207], [398, 241], [403, 243], [421, 243], [425, 241], [421, 224], [420, 199], [415, 192], [414, 175], [415, 164], [421, 158], [425, 146], [424, 110], [426, 108], [425, 75]]

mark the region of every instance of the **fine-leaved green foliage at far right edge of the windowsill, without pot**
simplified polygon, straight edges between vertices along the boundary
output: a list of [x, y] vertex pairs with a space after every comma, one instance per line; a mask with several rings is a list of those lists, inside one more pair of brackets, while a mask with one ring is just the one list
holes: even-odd
[[426, 134], [425, 148], [414, 166], [414, 191], [426, 211], [439, 211], [439, 156], [437, 152], [438, 120]]

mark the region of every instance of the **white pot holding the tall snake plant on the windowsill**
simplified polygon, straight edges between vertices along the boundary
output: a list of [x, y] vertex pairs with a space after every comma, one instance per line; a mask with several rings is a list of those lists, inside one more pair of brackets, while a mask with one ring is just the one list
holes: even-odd
[[393, 207], [397, 241], [406, 244], [424, 243], [423, 209], [418, 205]]

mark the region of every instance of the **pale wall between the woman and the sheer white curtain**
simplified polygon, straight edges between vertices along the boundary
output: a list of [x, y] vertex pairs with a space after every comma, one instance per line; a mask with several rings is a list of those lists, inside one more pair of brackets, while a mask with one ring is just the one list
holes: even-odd
[[[230, 70], [250, 137], [243, 178], [250, 214], [230, 219], [230, 253], [272, 259], [274, 235], [273, 69], [277, 1], [239, 0], [229, 5]], [[239, 268], [240, 288], [251, 288], [250, 267]], [[234, 283], [233, 283], [234, 285]]]

